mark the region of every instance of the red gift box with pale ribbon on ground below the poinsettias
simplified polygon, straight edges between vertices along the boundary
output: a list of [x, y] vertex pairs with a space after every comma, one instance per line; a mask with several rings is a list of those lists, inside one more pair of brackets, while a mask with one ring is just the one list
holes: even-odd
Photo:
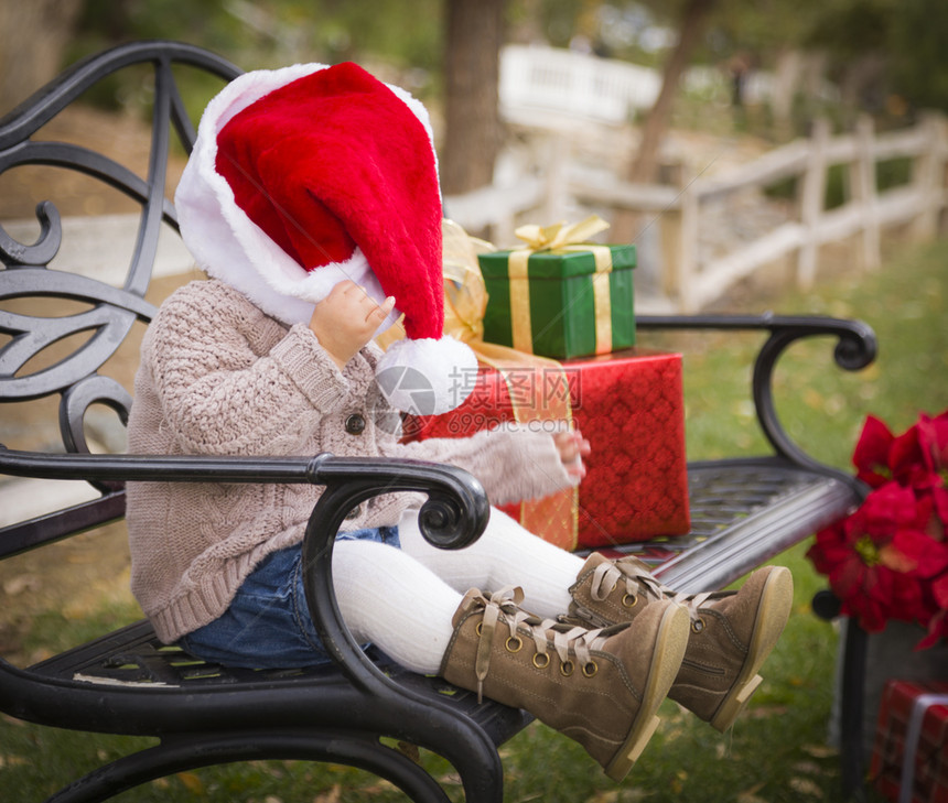
[[948, 682], [885, 684], [869, 774], [887, 800], [948, 803]]

